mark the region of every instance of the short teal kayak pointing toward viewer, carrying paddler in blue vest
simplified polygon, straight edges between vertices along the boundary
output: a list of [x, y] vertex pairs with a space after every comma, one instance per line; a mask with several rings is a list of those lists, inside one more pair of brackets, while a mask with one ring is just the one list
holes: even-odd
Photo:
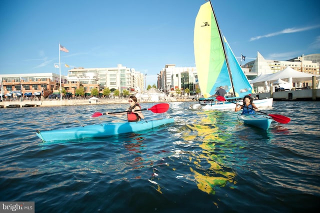
[[245, 124], [252, 125], [258, 128], [267, 130], [273, 119], [262, 114], [238, 114], [238, 119]]

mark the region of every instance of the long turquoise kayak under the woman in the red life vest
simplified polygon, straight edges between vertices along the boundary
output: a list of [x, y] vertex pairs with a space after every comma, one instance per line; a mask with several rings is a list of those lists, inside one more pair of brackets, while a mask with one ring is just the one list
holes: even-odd
[[55, 140], [73, 140], [90, 137], [105, 137], [128, 132], [143, 131], [173, 122], [174, 119], [172, 117], [155, 120], [141, 120], [137, 122], [105, 122], [64, 129], [53, 129], [46, 131], [36, 130], [36, 135], [43, 142]]

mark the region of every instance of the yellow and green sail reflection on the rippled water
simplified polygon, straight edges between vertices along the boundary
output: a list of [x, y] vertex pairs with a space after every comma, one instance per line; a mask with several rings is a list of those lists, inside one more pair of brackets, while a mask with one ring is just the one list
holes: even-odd
[[[215, 186], [226, 186], [229, 183], [228, 187], [233, 187], [236, 184], [235, 172], [224, 164], [226, 155], [221, 152], [228, 145], [234, 144], [227, 139], [229, 134], [216, 125], [217, 119], [225, 115], [225, 112], [204, 111], [198, 112], [198, 115], [202, 119], [197, 123], [201, 124], [186, 124], [180, 137], [184, 143], [188, 141], [189, 145], [193, 147], [196, 145], [201, 148], [201, 151], [178, 150], [175, 156], [188, 159], [189, 170], [201, 191], [215, 194]], [[198, 147], [193, 149], [198, 150]]]

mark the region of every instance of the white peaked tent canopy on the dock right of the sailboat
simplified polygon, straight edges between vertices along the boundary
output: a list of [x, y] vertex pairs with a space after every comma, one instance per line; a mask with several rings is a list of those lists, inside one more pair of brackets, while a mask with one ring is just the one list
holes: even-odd
[[[265, 81], [267, 81], [268, 83], [274, 83], [278, 79], [282, 79], [289, 82], [301, 82], [306, 80], [312, 80], [312, 76], [314, 76], [314, 74], [296, 71], [291, 67], [287, 66], [285, 69], [272, 74], [261, 74], [256, 78], [252, 79], [250, 83], [254, 86], [263, 86]], [[319, 75], [315, 76], [318, 77]]]

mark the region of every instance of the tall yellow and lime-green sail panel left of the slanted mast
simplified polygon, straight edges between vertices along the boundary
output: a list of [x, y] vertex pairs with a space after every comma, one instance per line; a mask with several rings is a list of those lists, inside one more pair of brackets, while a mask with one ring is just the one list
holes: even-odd
[[[208, 97], [214, 94], [217, 85], [224, 85], [216, 80], [225, 65], [221, 38], [209, 1], [200, 6], [195, 18], [193, 39], [199, 86], [202, 95]], [[228, 78], [228, 75], [224, 78]]]

